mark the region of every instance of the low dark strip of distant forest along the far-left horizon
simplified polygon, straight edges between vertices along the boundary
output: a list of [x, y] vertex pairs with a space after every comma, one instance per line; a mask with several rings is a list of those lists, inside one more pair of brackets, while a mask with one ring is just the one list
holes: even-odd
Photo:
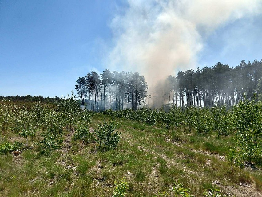
[[10, 101], [23, 101], [23, 102], [34, 102], [34, 101], [41, 101], [41, 102], [50, 102], [53, 103], [55, 101], [60, 101], [60, 98], [57, 96], [54, 98], [50, 97], [43, 97], [43, 96], [31, 96], [30, 94], [26, 96], [0, 96], [0, 100], [10, 100]]

